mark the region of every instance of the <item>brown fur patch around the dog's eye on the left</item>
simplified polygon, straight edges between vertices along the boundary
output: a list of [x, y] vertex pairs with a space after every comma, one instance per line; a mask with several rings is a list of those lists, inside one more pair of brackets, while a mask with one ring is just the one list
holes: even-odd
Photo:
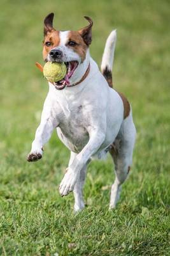
[[[45, 43], [50, 42], [50, 46], [46, 46]], [[45, 35], [45, 40], [43, 42], [43, 59], [46, 60], [48, 52], [51, 51], [53, 47], [57, 47], [60, 44], [59, 31], [53, 29], [47, 32]]]

